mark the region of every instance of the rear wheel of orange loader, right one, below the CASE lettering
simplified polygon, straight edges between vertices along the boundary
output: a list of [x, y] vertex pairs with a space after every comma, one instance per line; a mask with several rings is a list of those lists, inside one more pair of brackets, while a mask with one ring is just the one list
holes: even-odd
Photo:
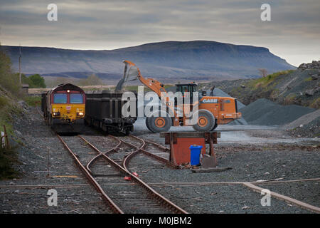
[[192, 126], [196, 131], [210, 131], [215, 127], [215, 117], [206, 109], [198, 110], [198, 121]]

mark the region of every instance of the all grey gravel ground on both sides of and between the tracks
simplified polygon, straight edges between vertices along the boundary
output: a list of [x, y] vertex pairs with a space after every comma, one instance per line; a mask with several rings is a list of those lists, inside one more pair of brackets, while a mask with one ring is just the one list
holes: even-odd
[[[30, 115], [26, 115], [24, 119], [16, 117], [14, 124], [16, 135], [23, 144], [18, 149], [21, 164], [16, 165], [21, 172], [21, 177], [0, 181], [0, 213], [111, 213], [36, 110], [30, 108], [28, 112]], [[137, 121], [133, 134], [164, 145], [164, 138], [159, 138], [159, 134], [149, 133], [143, 123], [143, 120]], [[242, 130], [239, 130], [239, 126], [230, 128], [230, 126], [220, 128], [222, 138], [218, 140], [218, 145], [215, 145], [215, 153], [218, 158], [218, 167], [231, 167], [231, 170], [210, 173], [193, 173], [188, 167], [172, 170], [143, 154], [132, 158], [129, 170], [137, 172], [139, 177], [150, 183], [156, 191], [191, 213], [309, 213], [306, 209], [274, 198], [270, 207], [262, 207], [260, 204], [262, 196], [240, 184], [182, 185], [176, 183], [255, 182], [274, 179], [284, 181], [320, 177], [319, 140], [294, 141], [294, 138], [282, 135], [281, 131], [274, 128], [256, 129], [250, 126]], [[181, 128], [173, 130], [181, 130]], [[96, 130], [85, 128], [82, 135], [102, 152], [117, 145], [115, 140], [105, 137]], [[241, 135], [246, 135], [244, 142], [238, 142]], [[64, 138], [68, 137], [64, 136]], [[277, 140], [274, 142], [266, 140], [269, 138]], [[127, 137], [123, 139], [128, 140]], [[253, 143], [255, 140], [257, 140], [256, 143]], [[78, 150], [75, 151], [78, 155], [82, 155], [82, 152], [92, 152], [80, 141], [72, 146]], [[110, 156], [120, 161], [124, 155], [133, 150], [124, 148], [119, 152], [112, 152]], [[146, 150], [169, 158], [169, 153], [157, 150], [153, 145], [147, 145]], [[102, 162], [98, 160], [98, 166], [93, 171], [102, 172], [100, 170]], [[98, 177], [99, 180], [103, 178]], [[111, 182], [112, 179], [109, 179], [105, 185]], [[117, 183], [121, 184], [121, 191], [119, 186], [112, 185], [107, 187], [108, 190], [118, 191], [120, 195], [131, 194], [130, 189], [133, 187], [131, 182]], [[320, 207], [318, 183], [279, 182], [262, 185], [257, 182], [255, 185]], [[47, 204], [49, 197], [47, 193], [52, 188], [58, 192], [57, 207]], [[135, 196], [132, 195], [132, 197]]]

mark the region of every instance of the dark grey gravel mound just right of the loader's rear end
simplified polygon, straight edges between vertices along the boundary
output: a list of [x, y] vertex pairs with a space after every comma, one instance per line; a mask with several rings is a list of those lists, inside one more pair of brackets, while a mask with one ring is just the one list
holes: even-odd
[[243, 118], [251, 125], [284, 125], [313, 111], [299, 105], [279, 105], [265, 98], [241, 109]]

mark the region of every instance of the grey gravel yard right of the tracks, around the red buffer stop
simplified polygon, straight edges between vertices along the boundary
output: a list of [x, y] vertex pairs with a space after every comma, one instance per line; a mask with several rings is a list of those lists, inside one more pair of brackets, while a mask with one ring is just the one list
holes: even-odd
[[[135, 135], [164, 145], [164, 138], [159, 138], [158, 134], [147, 133], [147, 130], [144, 130], [141, 125], [137, 128], [139, 130], [134, 133]], [[178, 185], [174, 183], [256, 182], [320, 177], [319, 140], [297, 140], [277, 128], [246, 126], [244, 130], [237, 129], [226, 129], [223, 126], [221, 139], [218, 139], [218, 144], [215, 145], [218, 167], [232, 167], [231, 170], [193, 173], [190, 169], [170, 170], [168, 167], [159, 165], [150, 168], [151, 162], [139, 162], [137, 158], [137, 163], [132, 160], [130, 167], [134, 167], [135, 172], [138, 172], [142, 180], [146, 182], [165, 182], [164, 185], [155, 184], [153, 186], [161, 194], [167, 195], [169, 199], [188, 212], [310, 213], [306, 209], [301, 209], [275, 198], [272, 198], [270, 207], [262, 207], [260, 204], [262, 196], [243, 185]], [[230, 137], [230, 142], [223, 135], [224, 132], [233, 136]], [[246, 135], [250, 143], [247, 140], [238, 142], [241, 141], [241, 135]], [[270, 138], [274, 140], [270, 140]], [[169, 155], [167, 156], [169, 157]], [[270, 186], [270, 190], [274, 189], [274, 192], [317, 206], [320, 199], [320, 190], [316, 183], [274, 183], [259, 186], [265, 186], [265, 188]]]

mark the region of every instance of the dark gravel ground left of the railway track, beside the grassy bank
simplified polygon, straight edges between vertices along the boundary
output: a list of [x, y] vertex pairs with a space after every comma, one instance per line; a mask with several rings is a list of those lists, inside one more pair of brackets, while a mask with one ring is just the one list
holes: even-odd
[[[0, 213], [110, 213], [41, 116], [28, 112], [14, 123], [24, 145], [16, 167], [21, 177], [0, 181]], [[56, 207], [48, 206], [50, 189], [57, 190]]]

